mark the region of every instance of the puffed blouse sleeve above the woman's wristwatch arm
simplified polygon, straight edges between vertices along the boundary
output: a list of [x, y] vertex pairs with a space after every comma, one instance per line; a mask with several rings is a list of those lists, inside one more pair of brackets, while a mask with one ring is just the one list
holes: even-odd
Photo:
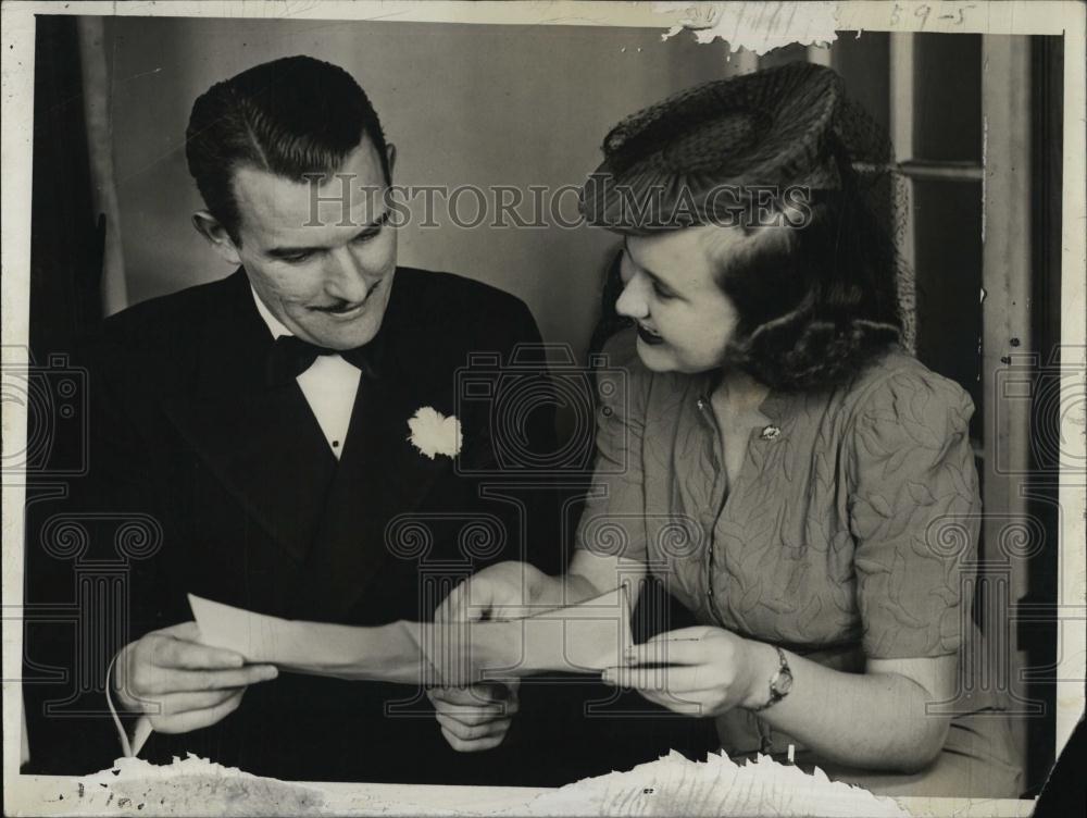
[[870, 658], [959, 648], [980, 510], [973, 411], [958, 384], [916, 363], [880, 380], [859, 404], [849, 503]]

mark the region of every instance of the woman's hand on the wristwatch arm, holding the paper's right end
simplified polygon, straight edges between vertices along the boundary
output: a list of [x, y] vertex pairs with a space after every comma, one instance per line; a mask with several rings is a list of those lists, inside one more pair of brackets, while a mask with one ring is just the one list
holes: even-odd
[[637, 690], [676, 712], [712, 717], [734, 707], [763, 704], [760, 696], [770, 696], [769, 680], [777, 657], [769, 645], [721, 628], [698, 627], [669, 631], [635, 645], [626, 662], [607, 670], [604, 683]]

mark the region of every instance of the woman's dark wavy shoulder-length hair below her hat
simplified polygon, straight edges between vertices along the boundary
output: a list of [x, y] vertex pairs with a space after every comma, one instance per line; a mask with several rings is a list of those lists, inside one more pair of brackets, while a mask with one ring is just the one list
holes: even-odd
[[813, 190], [803, 226], [769, 228], [719, 271], [739, 314], [726, 360], [774, 389], [844, 384], [900, 338], [895, 245], [839, 169], [841, 188]]

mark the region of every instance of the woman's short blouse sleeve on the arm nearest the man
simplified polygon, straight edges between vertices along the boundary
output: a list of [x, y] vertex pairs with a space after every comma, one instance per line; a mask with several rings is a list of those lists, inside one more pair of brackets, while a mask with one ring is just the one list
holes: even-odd
[[633, 333], [614, 336], [598, 370], [592, 486], [575, 540], [597, 556], [646, 560], [642, 441], [651, 373], [637, 356]]

